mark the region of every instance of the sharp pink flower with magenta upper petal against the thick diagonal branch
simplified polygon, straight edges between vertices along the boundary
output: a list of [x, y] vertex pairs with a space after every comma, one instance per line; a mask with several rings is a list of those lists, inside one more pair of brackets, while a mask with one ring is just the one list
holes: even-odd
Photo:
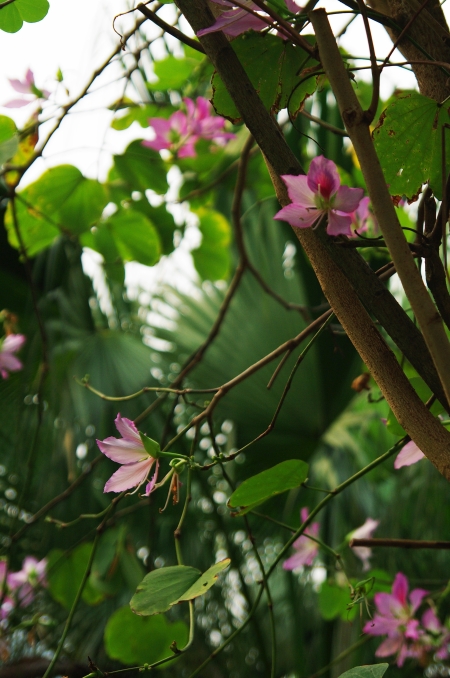
[[352, 235], [351, 213], [363, 196], [362, 188], [341, 186], [336, 165], [319, 155], [312, 160], [307, 176], [281, 177], [288, 189], [291, 204], [274, 217], [295, 228], [317, 227], [328, 218], [328, 235]]

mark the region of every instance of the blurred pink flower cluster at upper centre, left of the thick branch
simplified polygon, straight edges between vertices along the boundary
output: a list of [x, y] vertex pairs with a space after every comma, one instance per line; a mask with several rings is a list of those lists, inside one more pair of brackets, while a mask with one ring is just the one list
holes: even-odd
[[150, 118], [150, 125], [155, 132], [151, 141], [143, 141], [142, 145], [154, 151], [169, 149], [177, 153], [179, 158], [194, 158], [195, 144], [199, 139], [210, 139], [223, 145], [235, 134], [223, 132], [225, 118], [211, 115], [212, 106], [204, 97], [198, 97], [194, 103], [192, 99], [183, 99], [186, 113], [176, 111], [168, 120]]

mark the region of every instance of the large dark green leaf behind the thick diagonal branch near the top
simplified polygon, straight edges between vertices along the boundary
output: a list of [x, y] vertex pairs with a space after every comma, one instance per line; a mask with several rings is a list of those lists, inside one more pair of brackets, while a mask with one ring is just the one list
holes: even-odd
[[[304, 79], [299, 73], [313, 62], [308, 54], [296, 45], [280, 40], [274, 35], [246, 33], [232, 42], [232, 47], [265, 107], [272, 113], [286, 108], [295, 115], [306, 97], [316, 89], [316, 78]], [[315, 65], [315, 62], [314, 62]], [[303, 81], [303, 82], [302, 82]], [[212, 79], [213, 105], [219, 115], [234, 123], [241, 117], [221, 77], [215, 73]]]

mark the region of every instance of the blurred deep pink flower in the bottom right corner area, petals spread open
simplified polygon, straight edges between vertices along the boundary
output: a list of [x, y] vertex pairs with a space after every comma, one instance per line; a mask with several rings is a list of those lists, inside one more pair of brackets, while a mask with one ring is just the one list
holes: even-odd
[[364, 632], [372, 636], [387, 635], [376, 651], [377, 657], [397, 655], [397, 664], [402, 666], [407, 657], [418, 657], [420, 651], [414, 645], [423, 633], [414, 614], [428, 593], [414, 589], [408, 596], [409, 584], [404, 574], [398, 572], [392, 585], [392, 593], [375, 594], [377, 612], [373, 620], [364, 626]]

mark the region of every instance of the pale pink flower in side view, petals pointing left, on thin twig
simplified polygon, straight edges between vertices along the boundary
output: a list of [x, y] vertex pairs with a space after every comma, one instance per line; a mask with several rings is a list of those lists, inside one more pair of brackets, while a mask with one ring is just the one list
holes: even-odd
[[122, 438], [111, 436], [105, 440], [97, 440], [97, 445], [103, 454], [118, 464], [122, 464], [108, 480], [103, 491], [124, 492], [132, 487], [139, 489], [148, 480], [152, 466], [155, 464], [154, 475], [145, 488], [144, 494], [148, 496], [155, 489], [159, 462], [146, 451], [133, 421], [118, 414], [115, 424]]

